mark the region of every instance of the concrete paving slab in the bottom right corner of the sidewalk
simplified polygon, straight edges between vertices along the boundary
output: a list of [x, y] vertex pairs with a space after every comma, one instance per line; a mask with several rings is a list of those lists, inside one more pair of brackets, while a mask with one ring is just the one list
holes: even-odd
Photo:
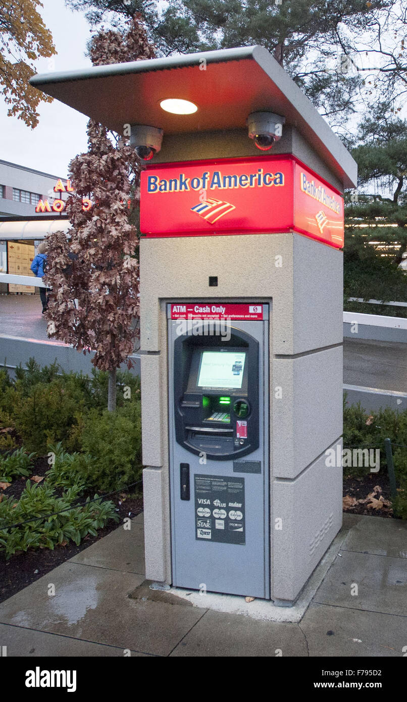
[[393, 614], [312, 602], [300, 628], [309, 656], [400, 657], [407, 646], [407, 620]]

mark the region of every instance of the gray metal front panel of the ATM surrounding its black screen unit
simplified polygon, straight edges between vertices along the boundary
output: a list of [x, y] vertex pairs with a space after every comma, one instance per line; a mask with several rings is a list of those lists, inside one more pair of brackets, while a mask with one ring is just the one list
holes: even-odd
[[[267, 305], [265, 305], [267, 307]], [[267, 307], [268, 309], [268, 307]], [[261, 472], [234, 472], [233, 461], [206, 460], [175, 441], [173, 425], [173, 342], [177, 322], [168, 319], [169, 419], [173, 585], [180, 588], [269, 598], [269, 321], [232, 322], [259, 342], [260, 445], [244, 461], [258, 461]], [[242, 460], [242, 459], [241, 459]], [[180, 499], [180, 463], [189, 464], [190, 499]], [[196, 539], [196, 476], [229, 477], [244, 483], [244, 545]], [[236, 486], [239, 488], [239, 486]], [[228, 509], [228, 506], [227, 506]], [[236, 511], [241, 511], [237, 508]], [[215, 518], [211, 515], [213, 527]], [[201, 522], [199, 522], [201, 523]], [[229, 522], [229, 526], [238, 522]], [[227, 538], [227, 537], [226, 537]], [[232, 537], [234, 538], [234, 537]]]

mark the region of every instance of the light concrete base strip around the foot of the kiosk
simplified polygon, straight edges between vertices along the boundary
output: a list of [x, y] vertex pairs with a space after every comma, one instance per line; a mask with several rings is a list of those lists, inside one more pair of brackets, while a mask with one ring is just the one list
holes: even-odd
[[293, 607], [276, 607], [270, 600], [256, 599], [253, 602], [246, 602], [244, 597], [236, 595], [221, 595], [215, 592], [201, 594], [196, 590], [183, 590], [181, 588], [171, 588], [170, 593], [183, 600], [188, 600], [194, 607], [227, 612], [229, 614], [243, 614], [252, 619], [260, 619], [262, 621], [299, 622], [304, 616], [316, 590], [321, 585], [323, 578], [325, 578], [328, 570], [331, 568], [335, 557], [337, 557], [352, 523], [352, 520], [345, 522], [331, 543], [330, 548], [328, 548], [307, 583], [305, 583]]

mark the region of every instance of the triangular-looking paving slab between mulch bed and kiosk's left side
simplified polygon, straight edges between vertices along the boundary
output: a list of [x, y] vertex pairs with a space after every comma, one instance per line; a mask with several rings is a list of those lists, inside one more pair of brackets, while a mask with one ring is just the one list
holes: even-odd
[[72, 563], [110, 568], [145, 575], [144, 531], [142, 525], [131, 522], [130, 529], [123, 525], [96, 541], [70, 559]]

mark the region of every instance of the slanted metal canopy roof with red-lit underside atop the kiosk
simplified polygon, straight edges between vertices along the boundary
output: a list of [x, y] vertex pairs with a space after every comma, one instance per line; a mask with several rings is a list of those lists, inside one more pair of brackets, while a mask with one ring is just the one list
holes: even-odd
[[[202, 69], [206, 67], [206, 69]], [[262, 46], [206, 51], [39, 74], [30, 83], [117, 133], [148, 124], [165, 134], [246, 128], [250, 112], [286, 117], [342, 181], [356, 185], [357, 166], [312, 103]], [[194, 114], [164, 112], [164, 98], [184, 98]]]

